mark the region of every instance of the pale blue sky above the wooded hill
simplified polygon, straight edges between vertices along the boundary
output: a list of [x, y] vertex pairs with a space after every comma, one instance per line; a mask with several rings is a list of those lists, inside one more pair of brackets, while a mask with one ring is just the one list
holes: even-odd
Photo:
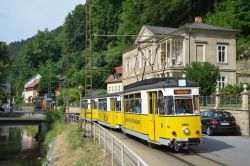
[[0, 0], [0, 41], [25, 40], [38, 30], [53, 30], [85, 0]]

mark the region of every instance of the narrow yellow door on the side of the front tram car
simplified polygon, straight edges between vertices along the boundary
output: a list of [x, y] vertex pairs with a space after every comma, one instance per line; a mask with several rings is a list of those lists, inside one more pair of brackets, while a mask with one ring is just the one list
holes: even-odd
[[149, 92], [149, 140], [155, 140], [156, 92]]

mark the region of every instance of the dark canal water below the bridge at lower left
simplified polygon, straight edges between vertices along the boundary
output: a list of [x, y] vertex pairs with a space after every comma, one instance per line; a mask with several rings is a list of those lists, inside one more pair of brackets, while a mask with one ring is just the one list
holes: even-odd
[[40, 166], [44, 150], [36, 132], [35, 126], [0, 126], [0, 166]]

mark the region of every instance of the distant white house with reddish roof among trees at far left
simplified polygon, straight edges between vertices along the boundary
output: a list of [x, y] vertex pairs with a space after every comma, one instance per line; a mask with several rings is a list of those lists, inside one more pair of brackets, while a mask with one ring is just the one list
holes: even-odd
[[37, 74], [24, 84], [24, 91], [22, 93], [22, 97], [26, 103], [33, 101], [35, 97], [39, 96], [38, 85], [40, 80], [41, 75]]

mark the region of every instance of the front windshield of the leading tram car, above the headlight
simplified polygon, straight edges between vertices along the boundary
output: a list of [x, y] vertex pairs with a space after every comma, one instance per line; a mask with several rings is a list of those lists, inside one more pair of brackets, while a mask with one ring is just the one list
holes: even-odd
[[175, 99], [176, 114], [193, 114], [192, 99]]

